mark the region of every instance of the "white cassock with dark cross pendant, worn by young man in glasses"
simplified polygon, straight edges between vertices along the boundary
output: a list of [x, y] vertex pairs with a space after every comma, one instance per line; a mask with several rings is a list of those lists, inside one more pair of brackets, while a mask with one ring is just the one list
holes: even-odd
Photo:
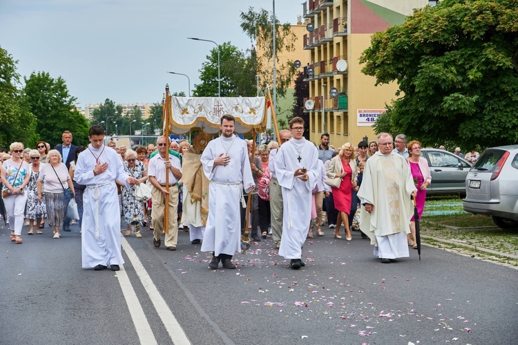
[[[302, 158], [299, 162], [298, 158]], [[295, 177], [296, 169], [307, 169], [307, 181]], [[291, 138], [282, 144], [275, 158], [275, 171], [282, 187], [283, 218], [279, 255], [300, 259], [311, 221], [311, 191], [320, 179], [318, 151], [312, 142]]]

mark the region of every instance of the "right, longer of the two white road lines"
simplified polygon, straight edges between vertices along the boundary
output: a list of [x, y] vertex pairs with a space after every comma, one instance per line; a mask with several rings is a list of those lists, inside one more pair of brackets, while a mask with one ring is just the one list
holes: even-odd
[[151, 299], [151, 302], [153, 302], [153, 306], [155, 306], [155, 310], [157, 311], [158, 316], [162, 320], [162, 323], [164, 324], [167, 333], [169, 333], [169, 337], [171, 338], [173, 343], [175, 345], [190, 345], [191, 342], [189, 342], [189, 339], [184, 333], [184, 330], [182, 329], [180, 324], [178, 324], [175, 315], [173, 315], [171, 309], [169, 309], [169, 307], [167, 306], [166, 301], [164, 300], [162, 295], [160, 295], [160, 292], [155, 286], [155, 283], [153, 283], [153, 280], [151, 280], [151, 277], [149, 277], [148, 272], [146, 272], [146, 270], [144, 269], [144, 265], [142, 265], [139, 258], [137, 257], [137, 254], [135, 254], [133, 248], [131, 248], [131, 245], [129, 245], [128, 241], [126, 241], [126, 239], [124, 239], [124, 237], [122, 236], [121, 245], [122, 248], [124, 248], [126, 255], [128, 255], [128, 259], [131, 261], [133, 268], [135, 268], [135, 272], [137, 273], [137, 276], [139, 277], [142, 286], [144, 286], [144, 289], [146, 290], [149, 298]]

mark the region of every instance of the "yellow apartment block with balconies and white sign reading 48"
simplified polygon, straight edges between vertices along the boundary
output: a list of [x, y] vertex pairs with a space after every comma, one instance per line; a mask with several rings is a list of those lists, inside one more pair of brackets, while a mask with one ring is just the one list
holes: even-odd
[[[370, 46], [372, 34], [402, 24], [414, 8], [423, 8], [428, 0], [308, 0], [303, 17], [313, 30], [303, 36], [303, 48], [309, 54], [313, 73], [309, 82], [309, 138], [320, 142], [330, 134], [331, 143], [358, 144], [364, 137], [375, 140], [372, 124], [395, 97], [395, 83], [374, 86], [374, 77], [361, 73], [358, 58]], [[303, 65], [304, 66], [304, 65]], [[329, 96], [336, 88], [338, 95]]]

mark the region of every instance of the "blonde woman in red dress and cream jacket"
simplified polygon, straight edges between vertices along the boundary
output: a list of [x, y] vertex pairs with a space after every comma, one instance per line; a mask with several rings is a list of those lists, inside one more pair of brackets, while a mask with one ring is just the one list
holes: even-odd
[[340, 225], [343, 222], [345, 227], [345, 239], [352, 240], [351, 231], [349, 230], [348, 214], [351, 212], [352, 189], [356, 187], [356, 162], [354, 161], [354, 148], [350, 142], [346, 142], [340, 148], [338, 156], [332, 158], [327, 169], [327, 177], [341, 178], [339, 188], [332, 187], [334, 207], [338, 210], [338, 219], [336, 220], [336, 229], [334, 237], [341, 239]]

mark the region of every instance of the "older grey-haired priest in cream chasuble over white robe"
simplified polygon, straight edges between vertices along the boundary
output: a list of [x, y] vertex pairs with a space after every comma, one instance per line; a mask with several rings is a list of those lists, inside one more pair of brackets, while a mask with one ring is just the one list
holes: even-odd
[[360, 229], [370, 237], [374, 256], [390, 263], [390, 259], [409, 257], [407, 234], [413, 216], [410, 196], [416, 193], [416, 187], [405, 158], [392, 151], [389, 133], [378, 135], [378, 147], [365, 164], [358, 190], [363, 207]]

